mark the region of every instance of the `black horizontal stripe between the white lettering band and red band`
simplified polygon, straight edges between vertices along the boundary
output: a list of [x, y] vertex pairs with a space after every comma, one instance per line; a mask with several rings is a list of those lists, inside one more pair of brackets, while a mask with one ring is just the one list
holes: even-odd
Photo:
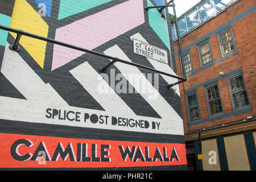
[[0, 119], [0, 133], [39, 135], [47, 137], [117, 140], [127, 142], [150, 143], [182, 143], [184, 135], [142, 133], [138, 131], [121, 131], [51, 125], [46, 123], [31, 123]]

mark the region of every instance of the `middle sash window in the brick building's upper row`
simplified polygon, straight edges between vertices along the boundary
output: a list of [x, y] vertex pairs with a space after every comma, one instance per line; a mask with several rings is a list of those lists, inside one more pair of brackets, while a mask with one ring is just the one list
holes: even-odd
[[203, 43], [200, 43], [197, 48], [199, 51], [199, 59], [200, 59], [201, 67], [213, 61], [209, 40], [206, 40]]

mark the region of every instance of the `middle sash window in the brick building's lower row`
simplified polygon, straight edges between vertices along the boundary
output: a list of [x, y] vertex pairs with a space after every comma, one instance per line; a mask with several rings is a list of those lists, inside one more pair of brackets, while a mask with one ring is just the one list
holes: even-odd
[[222, 104], [218, 85], [215, 83], [205, 87], [205, 92], [207, 95], [209, 115], [212, 116], [222, 113]]

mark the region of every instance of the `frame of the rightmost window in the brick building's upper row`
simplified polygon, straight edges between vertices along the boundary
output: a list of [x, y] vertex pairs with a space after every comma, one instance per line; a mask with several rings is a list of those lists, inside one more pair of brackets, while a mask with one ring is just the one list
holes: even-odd
[[[222, 40], [221, 40], [221, 35], [225, 34], [226, 32], [230, 31], [230, 35], [232, 36], [232, 39], [231, 40], [228, 40], [224, 43], [222, 43]], [[218, 38], [218, 44], [220, 46], [220, 50], [221, 50], [221, 56], [224, 57], [226, 55], [229, 55], [230, 53], [234, 52], [234, 51], [237, 51], [237, 46], [236, 46], [236, 42], [234, 40], [234, 34], [233, 34], [233, 31], [232, 31], [232, 28], [231, 27], [228, 27], [228, 28], [225, 28], [224, 30], [220, 31], [217, 33], [217, 38]], [[233, 46], [234, 46], [234, 49], [228, 53], [225, 53], [224, 52], [224, 44], [228, 43], [228, 42], [232, 42], [233, 43]]]

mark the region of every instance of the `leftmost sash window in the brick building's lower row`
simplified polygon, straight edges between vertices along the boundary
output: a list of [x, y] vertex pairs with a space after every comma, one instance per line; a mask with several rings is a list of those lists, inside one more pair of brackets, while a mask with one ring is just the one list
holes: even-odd
[[189, 121], [200, 119], [199, 105], [196, 92], [187, 94], [188, 118]]

